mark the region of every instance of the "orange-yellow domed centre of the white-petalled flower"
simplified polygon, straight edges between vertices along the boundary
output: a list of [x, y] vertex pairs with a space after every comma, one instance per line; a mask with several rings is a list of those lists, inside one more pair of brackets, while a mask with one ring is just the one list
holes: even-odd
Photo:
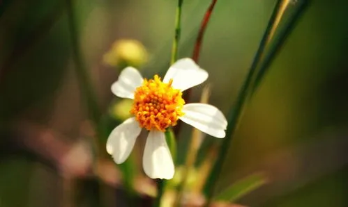
[[172, 88], [172, 80], [162, 83], [158, 75], [146, 80], [135, 90], [133, 108], [130, 113], [135, 115], [142, 128], [147, 130], [165, 131], [175, 126], [183, 115], [181, 109], [185, 101], [180, 90]]

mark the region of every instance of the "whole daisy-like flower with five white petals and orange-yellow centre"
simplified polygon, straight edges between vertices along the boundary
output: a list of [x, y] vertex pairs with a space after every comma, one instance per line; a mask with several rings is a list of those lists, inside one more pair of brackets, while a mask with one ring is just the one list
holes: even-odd
[[182, 92], [206, 81], [208, 73], [190, 58], [176, 61], [161, 81], [158, 75], [144, 79], [134, 67], [126, 67], [111, 90], [121, 98], [133, 99], [126, 119], [110, 133], [107, 153], [115, 163], [123, 163], [142, 129], [149, 131], [143, 168], [151, 179], [172, 179], [174, 163], [165, 140], [165, 130], [179, 119], [216, 138], [224, 138], [227, 121], [218, 108], [209, 104], [185, 104]]

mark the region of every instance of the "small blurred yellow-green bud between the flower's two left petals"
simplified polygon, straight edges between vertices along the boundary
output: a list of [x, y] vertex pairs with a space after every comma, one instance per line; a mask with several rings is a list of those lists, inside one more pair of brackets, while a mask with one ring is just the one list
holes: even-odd
[[132, 114], [130, 114], [132, 106], [132, 99], [122, 99], [112, 105], [110, 113], [116, 119], [126, 120], [132, 116]]

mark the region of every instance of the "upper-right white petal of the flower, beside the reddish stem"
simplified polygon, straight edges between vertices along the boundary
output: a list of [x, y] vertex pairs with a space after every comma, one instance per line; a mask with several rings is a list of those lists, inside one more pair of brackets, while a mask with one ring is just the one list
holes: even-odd
[[183, 91], [203, 83], [206, 78], [208, 78], [208, 72], [200, 68], [192, 59], [183, 58], [169, 67], [163, 83], [173, 79], [173, 88]]

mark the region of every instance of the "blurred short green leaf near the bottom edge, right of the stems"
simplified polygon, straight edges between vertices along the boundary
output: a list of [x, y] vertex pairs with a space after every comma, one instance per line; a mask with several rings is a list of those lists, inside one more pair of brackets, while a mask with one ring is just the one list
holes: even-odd
[[215, 197], [215, 200], [234, 202], [253, 190], [261, 187], [266, 182], [267, 179], [264, 174], [252, 174], [237, 181], [236, 183], [232, 184], [231, 187], [220, 192], [220, 194]]

